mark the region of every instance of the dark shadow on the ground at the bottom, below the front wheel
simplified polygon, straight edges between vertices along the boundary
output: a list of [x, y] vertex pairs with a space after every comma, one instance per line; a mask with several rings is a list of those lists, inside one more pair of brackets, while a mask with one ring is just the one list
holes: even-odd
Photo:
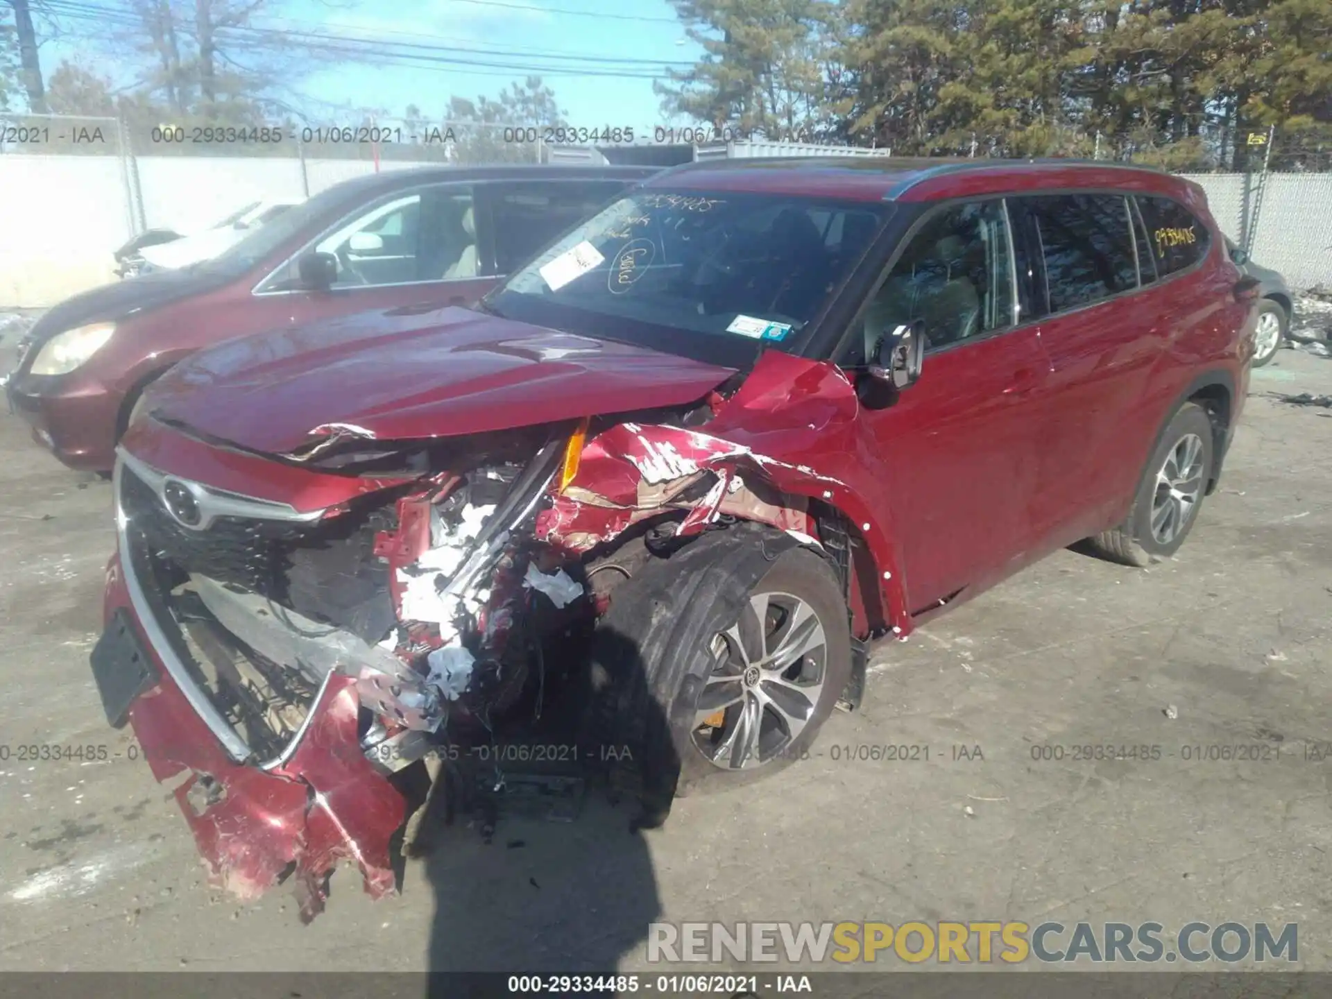
[[[629, 639], [614, 634], [601, 639], [610, 642], [623, 675], [642, 677], [642, 659]], [[567, 719], [575, 713], [546, 714]], [[653, 725], [665, 722], [653, 718], [638, 731], [651, 731]], [[559, 723], [553, 729], [558, 733]], [[574, 741], [570, 735], [565, 742], [566, 737], [550, 731], [547, 726], [538, 738], [551, 739], [551, 746]], [[623, 753], [626, 737], [614, 738], [621, 742], [610, 753]], [[595, 751], [597, 759], [603, 759], [601, 747], [611, 745], [599, 730], [595, 738], [585, 738], [581, 753], [586, 758]], [[649, 924], [661, 918], [662, 908], [647, 840], [638, 826], [665, 821], [678, 763], [670, 755], [662, 770], [641, 778], [662, 789], [650, 801], [667, 802], [665, 809], [645, 806], [637, 790], [615, 802], [607, 789], [622, 786], [622, 781], [607, 781], [601, 762], [591, 770], [598, 773], [587, 779], [577, 818], [558, 822], [501, 811], [490, 843], [482, 836], [484, 811], [480, 819], [460, 813], [445, 825], [444, 810], [428, 807], [432, 814], [414, 842], [417, 855], [426, 854], [421, 868], [434, 894], [428, 955], [432, 972], [613, 974], [621, 958], [645, 946]], [[448, 979], [432, 980], [432, 996], [449, 994]]]

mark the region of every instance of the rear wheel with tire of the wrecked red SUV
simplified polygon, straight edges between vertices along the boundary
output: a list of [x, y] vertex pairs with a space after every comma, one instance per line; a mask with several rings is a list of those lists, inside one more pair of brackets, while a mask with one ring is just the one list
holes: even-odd
[[1185, 402], [1152, 452], [1128, 517], [1090, 538], [1091, 546], [1140, 569], [1172, 557], [1197, 521], [1212, 456], [1212, 421], [1196, 402]]

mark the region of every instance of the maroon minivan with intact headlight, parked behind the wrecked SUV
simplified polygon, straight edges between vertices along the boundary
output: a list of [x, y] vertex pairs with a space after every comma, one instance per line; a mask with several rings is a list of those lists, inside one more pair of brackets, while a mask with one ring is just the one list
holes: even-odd
[[9, 409], [65, 465], [111, 472], [144, 386], [193, 350], [362, 309], [470, 304], [653, 172], [434, 166], [337, 184], [213, 260], [52, 308], [7, 382]]

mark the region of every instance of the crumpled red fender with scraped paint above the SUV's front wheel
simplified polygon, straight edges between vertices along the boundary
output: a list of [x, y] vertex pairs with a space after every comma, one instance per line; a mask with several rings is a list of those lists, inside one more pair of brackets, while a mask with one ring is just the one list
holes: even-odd
[[887, 456], [864, 438], [860, 401], [834, 364], [766, 353], [701, 429], [617, 424], [590, 440], [578, 472], [537, 522], [571, 553], [685, 510], [682, 534], [730, 514], [811, 534], [809, 501], [840, 510], [875, 562], [875, 614], [911, 629], [884, 484]]

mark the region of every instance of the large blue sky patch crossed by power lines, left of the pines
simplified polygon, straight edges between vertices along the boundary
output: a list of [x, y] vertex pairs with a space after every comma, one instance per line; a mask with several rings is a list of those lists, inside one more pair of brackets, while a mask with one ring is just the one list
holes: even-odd
[[[292, 0], [282, 7], [285, 21], [265, 19], [265, 24], [281, 27], [298, 21], [297, 27], [306, 29], [310, 24], [324, 24], [358, 36], [515, 53], [510, 60], [485, 56], [492, 63], [527, 64], [531, 53], [643, 60], [631, 68], [645, 73], [661, 72], [661, 65], [649, 65], [647, 60], [689, 64], [702, 53], [685, 37], [666, 0], [505, 3], [511, 5], [497, 7], [484, 0], [333, 0], [330, 11], [329, 3], [321, 0]], [[579, 13], [571, 13], [574, 11]], [[570, 125], [650, 128], [670, 124], [659, 111], [661, 99], [653, 93], [650, 79], [589, 76], [578, 72], [577, 59], [561, 60], [561, 64], [570, 72], [541, 76], [567, 111]], [[583, 65], [623, 68], [605, 61]], [[494, 97], [502, 87], [523, 76], [521, 69], [503, 68], [342, 65], [308, 77], [297, 89], [332, 105], [382, 107], [397, 115], [416, 104], [434, 119], [442, 115], [450, 95], [473, 100], [480, 95]]]

